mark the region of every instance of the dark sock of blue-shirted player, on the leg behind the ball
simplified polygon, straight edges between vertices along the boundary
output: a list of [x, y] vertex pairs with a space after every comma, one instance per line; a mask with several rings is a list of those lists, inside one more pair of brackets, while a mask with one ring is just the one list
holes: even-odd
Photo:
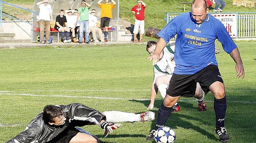
[[156, 119], [156, 130], [162, 126], [165, 125], [165, 122], [171, 115], [171, 112], [173, 111], [173, 107], [165, 107], [163, 103], [161, 104], [160, 108], [158, 109], [158, 115]]

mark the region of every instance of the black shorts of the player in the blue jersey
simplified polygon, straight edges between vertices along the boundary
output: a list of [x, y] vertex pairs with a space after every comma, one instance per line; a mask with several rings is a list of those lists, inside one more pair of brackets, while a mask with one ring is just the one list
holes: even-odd
[[195, 74], [173, 74], [166, 93], [173, 97], [193, 97], [195, 95], [196, 83], [199, 82], [202, 90], [206, 94], [210, 91], [210, 85], [216, 81], [224, 83], [218, 66], [208, 65]]

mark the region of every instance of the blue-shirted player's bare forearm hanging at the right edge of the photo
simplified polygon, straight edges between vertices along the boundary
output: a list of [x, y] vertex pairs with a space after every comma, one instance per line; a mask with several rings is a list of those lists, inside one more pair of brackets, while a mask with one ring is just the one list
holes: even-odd
[[240, 78], [242, 76], [242, 79], [243, 79], [243, 77], [245, 76], [245, 70], [243, 68], [243, 62], [242, 62], [238, 48], [236, 47], [229, 55], [232, 57], [232, 59], [236, 63], [236, 72], [237, 72], [236, 77]]

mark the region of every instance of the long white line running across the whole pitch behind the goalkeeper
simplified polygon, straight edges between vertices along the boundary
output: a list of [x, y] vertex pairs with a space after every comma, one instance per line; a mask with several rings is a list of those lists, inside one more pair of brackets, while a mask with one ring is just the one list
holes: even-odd
[[[90, 96], [72, 96], [72, 95], [35, 95], [35, 94], [26, 94], [26, 93], [0, 93], [0, 95], [22, 95], [22, 96], [32, 96], [32, 97], [69, 97], [69, 98], [90, 98], [90, 99], [111, 99], [111, 100], [137, 100], [137, 101], [150, 101], [150, 99], [128, 99], [128, 98], [113, 98], [113, 97], [90, 97]], [[195, 100], [182, 100], [183, 102], [195, 102]], [[206, 102], [213, 102], [211, 100]], [[231, 103], [250, 103], [256, 104], [256, 101], [228, 101]]]

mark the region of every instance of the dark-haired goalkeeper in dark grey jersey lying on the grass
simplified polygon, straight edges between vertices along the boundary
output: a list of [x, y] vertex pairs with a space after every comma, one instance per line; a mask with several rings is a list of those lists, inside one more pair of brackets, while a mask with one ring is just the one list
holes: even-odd
[[99, 143], [98, 137], [76, 126], [98, 124], [105, 130], [104, 137], [121, 124], [112, 122], [152, 121], [154, 112], [133, 114], [120, 111], [100, 113], [79, 103], [69, 105], [46, 105], [21, 132], [6, 143]]

